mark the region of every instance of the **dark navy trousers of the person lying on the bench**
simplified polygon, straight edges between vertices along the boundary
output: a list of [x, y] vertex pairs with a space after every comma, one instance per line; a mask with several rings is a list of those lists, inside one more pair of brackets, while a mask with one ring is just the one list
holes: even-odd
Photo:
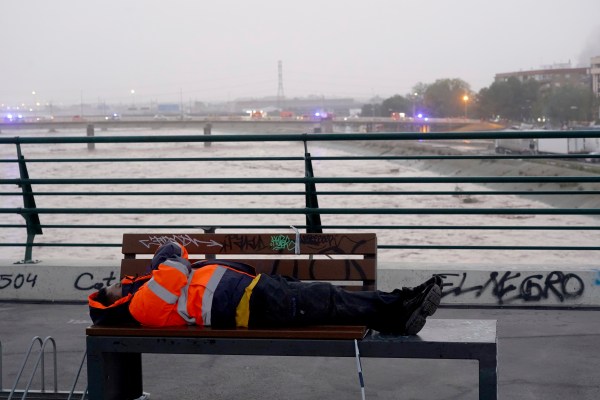
[[347, 291], [326, 282], [261, 275], [250, 297], [250, 328], [366, 325], [380, 331], [400, 324], [403, 294]]

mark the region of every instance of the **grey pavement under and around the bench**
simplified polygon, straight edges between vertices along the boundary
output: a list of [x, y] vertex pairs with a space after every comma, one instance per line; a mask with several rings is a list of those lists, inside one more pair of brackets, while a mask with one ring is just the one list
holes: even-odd
[[[599, 310], [443, 308], [435, 317], [498, 320], [501, 399], [600, 398]], [[36, 335], [55, 338], [59, 389], [70, 389], [85, 350], [85, 304], [0, 302], [0, 321], [4, 389], [12, 387]], [[144, 355], [144, 362], [151, 399], [360, 399], [352, 358]], [[477, 399], [473, 361], [362, 364], [367, 399]], [[49, 356], [46, 371], [51, 387]], [[85, 366], [81, 381], [78, 390], [87, 381]]]

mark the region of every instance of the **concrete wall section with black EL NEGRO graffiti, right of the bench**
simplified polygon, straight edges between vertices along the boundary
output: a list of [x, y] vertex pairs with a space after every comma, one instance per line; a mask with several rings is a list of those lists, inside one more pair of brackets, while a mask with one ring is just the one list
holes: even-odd
[[444, 276], [444, 304], [519, 307], [598, 307], [600, 270], [586, 265], [379, 263], [378, 288], [414, 286]]

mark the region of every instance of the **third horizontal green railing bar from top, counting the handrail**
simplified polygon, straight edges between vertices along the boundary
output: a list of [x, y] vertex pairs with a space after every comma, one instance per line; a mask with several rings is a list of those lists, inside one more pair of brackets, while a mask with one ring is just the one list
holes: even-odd
[[1, 185], [124, 184], [307, 184], [307, 183], [564, 183], [600, 182], [600, 176], [453, 176], [453, 177], [325, 177], [325, 178], [37, 178], [0, 179]]

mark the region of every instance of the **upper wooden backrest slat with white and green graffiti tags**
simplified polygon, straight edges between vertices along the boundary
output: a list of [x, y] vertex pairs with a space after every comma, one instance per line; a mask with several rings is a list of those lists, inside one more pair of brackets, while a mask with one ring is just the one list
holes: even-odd
[[[169, 241], [183, 244], [190, 254], [287, 254], [295, 251], [295, 234], [124, 234], [123, 254], [154, 254]], [[301, 254], [377, 253], [374, 233], [301, 234]]]

